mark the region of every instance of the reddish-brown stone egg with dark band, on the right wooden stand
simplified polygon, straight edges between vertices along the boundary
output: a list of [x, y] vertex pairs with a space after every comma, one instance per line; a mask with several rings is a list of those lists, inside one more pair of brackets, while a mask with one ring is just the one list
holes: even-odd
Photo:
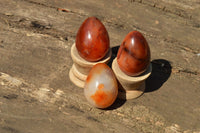
[[119, 68], [129, 76], [143, 73], [150, 63], [150, 49], [144, 36], [132, 31], [124, 38], [117, 53]]

